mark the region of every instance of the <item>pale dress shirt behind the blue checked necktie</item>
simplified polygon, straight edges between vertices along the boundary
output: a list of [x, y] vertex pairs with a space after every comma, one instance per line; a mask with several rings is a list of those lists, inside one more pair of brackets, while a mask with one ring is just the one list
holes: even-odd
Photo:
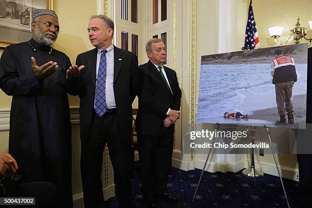
[[[96, 79], [99, 68], [99, 63], [101, 59], [101, 51], [104, 49], [97, 49], [97, 58], [96, 58]], [[106, 108], [115, 109], [115, 95], [114, 95], [114, 45], [111, 44], [106, 48], [106, 82], [105, 82], [105, 99], [106, 99]], [[96, 82], [97, 83], [97, 82]], [[96, 85], [96, 84], [95, 84]], [[94, 98], [94, 107], [95, 107], [95, 98]]]

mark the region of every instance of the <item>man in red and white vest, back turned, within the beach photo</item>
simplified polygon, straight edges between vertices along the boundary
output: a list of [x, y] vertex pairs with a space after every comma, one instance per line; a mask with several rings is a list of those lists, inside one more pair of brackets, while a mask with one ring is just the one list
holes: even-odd
[[277, 48], [273, 55], [271, 75], [275, 85], [276, 103], [280, 120], [277, 123], [286, 123], [285, 112], [288, 114], [288, 123], [294, 123], [294, 108], [291, 101], [293, 86], [297, 82], [297, 73], [293, 58], [285, 57], [283, 50]]

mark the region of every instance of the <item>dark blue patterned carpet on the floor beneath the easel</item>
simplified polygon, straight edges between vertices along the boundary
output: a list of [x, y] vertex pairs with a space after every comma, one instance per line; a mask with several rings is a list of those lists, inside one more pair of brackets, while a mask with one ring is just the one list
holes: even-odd
[[[287, 207], [283, 190], [276, 176], [265, 174], [264, 177], [254, 180], [237, 173], [204, 172], [202, 182], [197, 191], [197, 196], [192, 202], [193, 194], [198, 183], [201, 170], [183, 171], [172, 168], [169, 175], [168, 191], [179, 197], [178, 204], [170, 204], [159, 200], [158, 207], [213, 207], [213, 208], [236, 208], [236, 207], [259, 207], [281, 208]], [[297, 207], [299, 183], [289, 179], [283, 179], [290, 205]], [[146, 207], [143, 203], [141, 192], [141, 180], [139, 175], [139, 163], [135, 163], [134, 179], [132, 181], [132, 198], [137, 207]], [[116, 197], [110, 200], [110, 207], [118, 207]]]

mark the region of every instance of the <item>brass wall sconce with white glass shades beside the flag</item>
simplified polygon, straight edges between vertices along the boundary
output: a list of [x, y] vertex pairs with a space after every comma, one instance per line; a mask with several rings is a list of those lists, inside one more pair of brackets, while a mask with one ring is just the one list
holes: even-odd
[[[283, 27], [272, 27], [272, 28], [269, 28], [269, 33], [270, 33], [270, 36], [272, 38], [274, 38], [274, 41], [277, 43], [277, 44], [284, 44], [286, 42], [288, 42], [290, 39], [294, 39], [295, 40], [295, 43], [298, 44], [300, 43], [300, 40], [302, 38], [304, 38], [305, 40], [308, 40], [309, 42], [312, 42], [312, 38], [306, 38], [306, 34], [307, 34], [307, 29], [306, 28], [303, 28], [301, 27], [301, 24], [299, 22], [300, 18], [298, 17], [297, 19], [297, 23], [296, 23], [296, 27], [294, 29], [291, 29], [290, 32], [290, 36], [288, 37], [288, 39], [284, 42], [279, 42], [277, 41], [276, 39], [279, 38], [284, 30]], [[310, 29], [312, 30], [312, 21], [309, 21], [308, 22], [309, 25], [310, 25]], [[294, 35], [294, 37], [292, 36]]]

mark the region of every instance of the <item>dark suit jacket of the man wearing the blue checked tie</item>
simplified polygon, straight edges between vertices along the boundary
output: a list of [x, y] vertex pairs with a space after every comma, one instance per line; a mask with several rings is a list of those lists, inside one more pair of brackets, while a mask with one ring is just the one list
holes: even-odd
[[[86, 140], [94, 111], [97, 48], [77, 56], [76, 65], [85, 65], [79, 74], [80, 138]], [[120, 60], [121, 59], [121, 60]], [[131, 140], [132, 102], [138, 90], [138, 59], [134, 53], [114, 46], [114, 95], [118, 130], [124, 140]]]

